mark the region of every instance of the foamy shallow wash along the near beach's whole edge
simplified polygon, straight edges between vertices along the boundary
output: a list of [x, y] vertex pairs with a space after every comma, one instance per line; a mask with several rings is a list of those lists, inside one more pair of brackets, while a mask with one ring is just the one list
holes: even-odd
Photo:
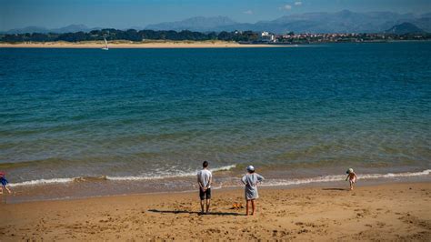
[[[431, 170], [417, 172], [362, 174], [359, 176], [361, 185], [395, 184], [400, 182], [431, 182]], [[228, 172], [229, 173], [229, 172]], [[288, 175], [287, 175], [288, 176]], [[165, 179], [115, 180], [106, 176], [60, 178], [60, 181], [38, 180], [24, 184], [10, 184], [15, 192], [13, 196], [5, 197], [7, 203], [25, 203], [28, 201], [68, 200], [89, 197], [113, 197], [127, 195], [144, 195], [162, 193], [187, 193], [194, 191], [195, 176], [178, 176]], [[217, 175], [214, 183], [215, 190], [236, 189], [242, 187], [239, 175], [221, 173]], [[346, 177], [344, 175], [313, 176], [289, 179], [267, 176], [262, 187], [266, 188], [296, 188], [296, 187], [325, 187], [331, 185], [342, 186]], [[56, 179], [54, 179], [56, 180]], [[66, 181], [63, 181], [66, 180]], [[181, 187], [175, 187], [175, 183]], [[174, 187], [172, 187], [174, 186]], [[157, 187], [157, 188], [152, 188]], [[53, 192], [55, 190], [55, 192]]]

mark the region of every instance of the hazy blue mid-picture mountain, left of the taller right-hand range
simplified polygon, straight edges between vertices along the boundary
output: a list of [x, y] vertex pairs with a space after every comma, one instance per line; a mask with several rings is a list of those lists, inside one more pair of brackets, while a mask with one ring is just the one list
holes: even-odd
[[165, 22], [156, 25], [147, 25], [145, 29], [152, 30], [191, 30], [191, 31], [214, 31], [220, 27], [236, 25], [237, 23], [226, 16], [204, 17], [196, 16], [182, 21]]

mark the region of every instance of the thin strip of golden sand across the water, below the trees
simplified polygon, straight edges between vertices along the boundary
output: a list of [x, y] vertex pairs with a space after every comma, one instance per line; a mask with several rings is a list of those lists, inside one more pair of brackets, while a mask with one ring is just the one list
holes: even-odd
[[[167, 42], [113, 42], [109, 43], [109, 48], [238, 48], [238, 47], [275, 47], [276, 45], [240, 45], [236, 42], [223, 41], [167, 41]], [[283, 45], [292, 46], [292, 45]], [[46, 43], [18, 43], [7, 44], [0, 43], [0, 48], [102, 48], [102, 42], [46, 42]]]

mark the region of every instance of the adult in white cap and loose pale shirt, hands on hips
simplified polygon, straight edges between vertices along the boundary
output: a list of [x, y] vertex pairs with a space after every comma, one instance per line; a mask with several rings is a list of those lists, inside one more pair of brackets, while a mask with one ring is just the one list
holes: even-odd
[[254, 166], [247, 167], [247, 174], [241, 179], [244, 185], [246, 185], [246, 216], [248, 216], [250, 203], [252, 206], [251, 215], [255, 215], [256, 213], [256, 198], [259, 197], [259, 194], [257, 193], [257, 183], [260, 183], [263, 180], [264, 176], [260, 176], [255, 173]]

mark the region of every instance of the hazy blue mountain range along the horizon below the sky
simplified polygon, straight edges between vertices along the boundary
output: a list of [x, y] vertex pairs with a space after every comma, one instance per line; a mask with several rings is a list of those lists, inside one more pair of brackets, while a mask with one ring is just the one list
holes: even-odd
[[[290, 31], [295, 33], [387, 33], [396, 25], [410, 24], [408, 29], [420, 29], [421, 32], [431, 33], [431, 13], [423, 15], [397, 14], [394, 12], [366, 12], [356, 13], [343, 10], [336, 13], [306, 13], [297, 15], [284, 15], [270, 21], [251, 23], [238, 23], [226, 16], [204, 17], [197, 16], [182, 21], [165, 22], [135, 29], [152, 30], [191, 30], [199, 32], [220, 32], [235, 30], [268, 31], [284, 34]], [[415, 27], [412, 27], [414, 25]], [[46, 29], [43, 27], [25, 27], [12, 29], [5, 33], [67, 33], [93, 29], [85, 25], [68, 25], [63, 28]], [[417, 30], [416, 30], [417, 31]]]

